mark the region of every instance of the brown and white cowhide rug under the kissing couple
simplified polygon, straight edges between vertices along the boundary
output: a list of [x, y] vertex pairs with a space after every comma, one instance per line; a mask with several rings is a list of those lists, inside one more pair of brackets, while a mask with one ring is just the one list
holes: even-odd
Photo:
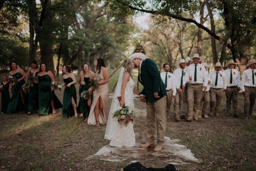
[[[156, 139], [156, 138], [155, 138]], [[105, 161], [121, 162], [129, 158], [142, 158], [148, 160], [160, 160], [168, 164], [196, 164], [202, 163], [202, 159], [197, 159], [191, 150], [184, 145], [176, 144], [180, 140], [170, 140], [165, 137], [164, 149], [159, 152], [153, 151], [155, 147], [141, 148], [140, 145], [146, 142], [146, 137], [135, 133], [135, 147], [111, 147], [109, 144], [102, 147], [96, 154], [87, 157], [92, 160], [100, 158]]]

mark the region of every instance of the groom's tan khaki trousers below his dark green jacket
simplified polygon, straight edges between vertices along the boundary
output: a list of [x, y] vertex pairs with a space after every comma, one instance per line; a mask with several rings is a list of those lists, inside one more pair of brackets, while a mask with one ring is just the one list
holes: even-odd
[[147, 143], [155, 144], [155, 131], [157, 130], [157, 146], [164, 146], [166, 129], [166, 96], [151, 103], [147, 100]]

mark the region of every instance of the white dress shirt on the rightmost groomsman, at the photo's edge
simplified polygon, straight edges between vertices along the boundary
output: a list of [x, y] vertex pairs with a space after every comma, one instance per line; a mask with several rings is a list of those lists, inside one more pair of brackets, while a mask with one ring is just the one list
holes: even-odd
[[[252, 71], [253, 71], [253, 77], [254, 77], [254, 84], [252, 84]], [[242, 74], [242, 80], [241, 80], [241, 89], [242, 91], [245, 91], [244, 86], [248, 87], [256, 87], [256, 70], [252, 70], [251, 68], [243, 71]]]

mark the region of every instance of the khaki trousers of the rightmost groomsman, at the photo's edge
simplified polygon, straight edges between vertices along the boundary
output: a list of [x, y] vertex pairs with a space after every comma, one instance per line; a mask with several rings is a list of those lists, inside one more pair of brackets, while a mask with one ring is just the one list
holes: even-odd
[[244, 117], [248, 117], [252, 115], [252, 108], [255, 103], [255, 96], [256, 96], [256, 88], [255, 87], [247, 87], [244, 86], [245, 95], [244, 95]]

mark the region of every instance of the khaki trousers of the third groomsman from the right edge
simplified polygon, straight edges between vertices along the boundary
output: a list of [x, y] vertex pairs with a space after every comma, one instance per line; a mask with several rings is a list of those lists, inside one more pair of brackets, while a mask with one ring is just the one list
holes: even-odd
[[[220, 113], [220, 103], [223, 96], [223, 88], [210, 90], [210, 111], [215, 112], [215, 114]], [[216, 105], [215, 105], [216, 103]]]

